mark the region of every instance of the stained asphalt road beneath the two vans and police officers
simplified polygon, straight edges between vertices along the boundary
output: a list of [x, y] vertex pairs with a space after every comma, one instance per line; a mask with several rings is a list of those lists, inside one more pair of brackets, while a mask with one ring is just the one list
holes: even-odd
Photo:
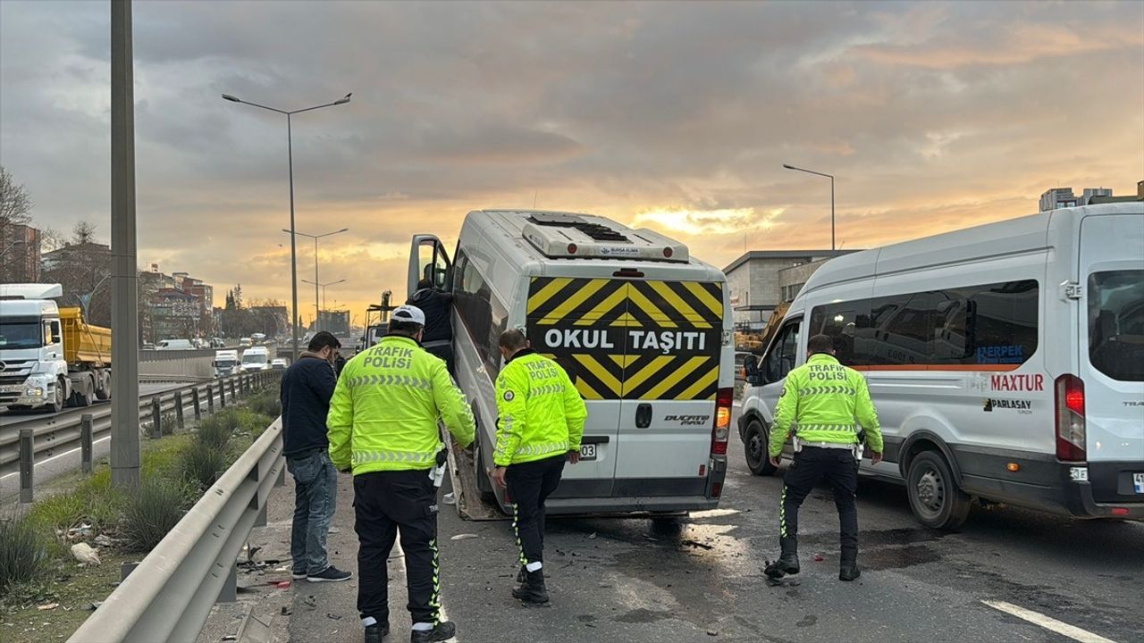
[[[343, 476], [331, 551], [335, 564], [356, 570], [351, 489]], [[546, 571], [553, 604], [543, 609], [522, 608], [509, 595], [516, 571], [510, 524], [466, 522], [443, 505], [442, 602], [458, 622], [456, 641], [1144, 641], [1144, 524], [975, 508], [959, 533], [939, 533], [913, 521], [903, 489], [864, 481], [861, 579], [837, 580], [836, 515], [829, 490], [821, 489], [802, 511], [803, 573], [771, 586], [761, 569], [777, 555], [780, 490], [780, 477], [752, 476], [741, 445], [732, 442], [717, 510], [666, 521], [550, 519]], [[264, 547], [260, 556], [288, 558], [292, 502], [289, 485], [276, 490], [271, 524], [252, 538]], [[476, 538], [451, 540], [456, 534]], [[390, 574], [394, 634], [387, 641], [407, 641], [399, 550]], [[276, 617], [275, 640], [362, 640], [356, 579], [303, 581], [288, 590], [264, 589], [263, 577], [255, 582], [263, 589], [248, 601], [273, 612], [267, 616]], [[1054, 619], [1050, 627], [1080, 629], [1066, 637], [1003, 612], [1006, 604], [1031, 610], [1033, 620]], [[200, 641], [233, 634], [241, 610], [223, 609]]]

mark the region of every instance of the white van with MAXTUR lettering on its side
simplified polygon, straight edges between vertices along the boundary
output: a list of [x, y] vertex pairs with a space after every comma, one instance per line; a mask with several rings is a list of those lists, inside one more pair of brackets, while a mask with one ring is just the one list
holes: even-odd
[[1144, 204], [1057, 209], [841, 256], [807, 280], [748, 381], [740, 437], [765, 444], [807, 339], [865, 373], [885, 460], [917, 519], [970, 500], [1144, 517]]

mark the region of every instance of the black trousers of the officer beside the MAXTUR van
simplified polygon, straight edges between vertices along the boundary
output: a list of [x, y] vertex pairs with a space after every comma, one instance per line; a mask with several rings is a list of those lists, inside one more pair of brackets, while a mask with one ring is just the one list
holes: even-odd
[[799, 507], [810, 491], [825, 478], [834, 491], [834, 506], [839, 510], [839, 540], [842, 559], [853, 561], [858, 555], [858, 463], [848, 448], [819, 448], [805, 446], [794, 455], [794, 462], [782, 481], [782, 506], [779, 509], [779, 537], [797, 538]]

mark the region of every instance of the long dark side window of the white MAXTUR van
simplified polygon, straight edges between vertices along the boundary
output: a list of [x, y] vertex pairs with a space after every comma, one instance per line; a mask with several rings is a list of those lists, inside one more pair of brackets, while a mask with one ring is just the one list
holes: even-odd
[[1036, 352], [1035, 279], [829, 303], [812, 334], [849, 366], [1024, 364]]

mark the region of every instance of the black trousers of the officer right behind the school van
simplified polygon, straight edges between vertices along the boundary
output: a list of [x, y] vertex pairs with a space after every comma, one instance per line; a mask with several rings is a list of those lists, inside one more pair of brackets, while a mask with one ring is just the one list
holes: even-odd
[[561, 484], [566, 454], [510, 465], [505, 471], [513, 500], [513, 527], [521, 548], [521, 564], [545, 561], [545, 500]]

